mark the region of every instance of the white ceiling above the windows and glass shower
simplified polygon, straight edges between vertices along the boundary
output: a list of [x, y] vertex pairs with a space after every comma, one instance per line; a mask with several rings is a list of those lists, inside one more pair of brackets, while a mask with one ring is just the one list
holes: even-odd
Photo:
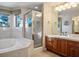
[[7, 9], [16, 9], [16, 8], [31, 8], [35, 9], [38, 7], [37, 10], [41, 10], [43, 6], [43, 2], [0, 2], [0, 8], [4, 7]]

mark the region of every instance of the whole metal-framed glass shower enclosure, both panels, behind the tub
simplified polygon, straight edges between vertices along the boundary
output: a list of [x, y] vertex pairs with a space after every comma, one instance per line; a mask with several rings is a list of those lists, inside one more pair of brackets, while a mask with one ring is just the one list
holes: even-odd
[[31, 10], [24, 15], [25, 38], [34, 40], [34, 47], [42, 46], [42, 13]]

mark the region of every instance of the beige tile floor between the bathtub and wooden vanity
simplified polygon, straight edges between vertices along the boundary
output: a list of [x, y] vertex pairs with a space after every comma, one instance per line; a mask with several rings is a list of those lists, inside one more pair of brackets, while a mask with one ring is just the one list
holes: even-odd
[[50, 51], [43, 51], [42, 49], [36, 49], [32, 54], [32, 57], [60, 57]]

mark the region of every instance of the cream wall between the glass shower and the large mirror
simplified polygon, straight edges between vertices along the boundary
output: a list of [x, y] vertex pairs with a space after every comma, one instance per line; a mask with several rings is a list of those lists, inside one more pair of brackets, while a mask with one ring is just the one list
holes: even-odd
[[45, 35], [58, 34], [58, 13], [49, 3], [43, 6], [43, 47], [45, 47]]

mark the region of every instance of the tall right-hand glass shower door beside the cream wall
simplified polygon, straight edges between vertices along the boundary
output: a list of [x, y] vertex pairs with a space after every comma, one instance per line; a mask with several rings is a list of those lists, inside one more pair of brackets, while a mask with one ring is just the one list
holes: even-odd
[[34, 47], [42, 46], [42, 13], [38, 11], [34, 11], [33, 18], [33, 39], [34, 39]]

